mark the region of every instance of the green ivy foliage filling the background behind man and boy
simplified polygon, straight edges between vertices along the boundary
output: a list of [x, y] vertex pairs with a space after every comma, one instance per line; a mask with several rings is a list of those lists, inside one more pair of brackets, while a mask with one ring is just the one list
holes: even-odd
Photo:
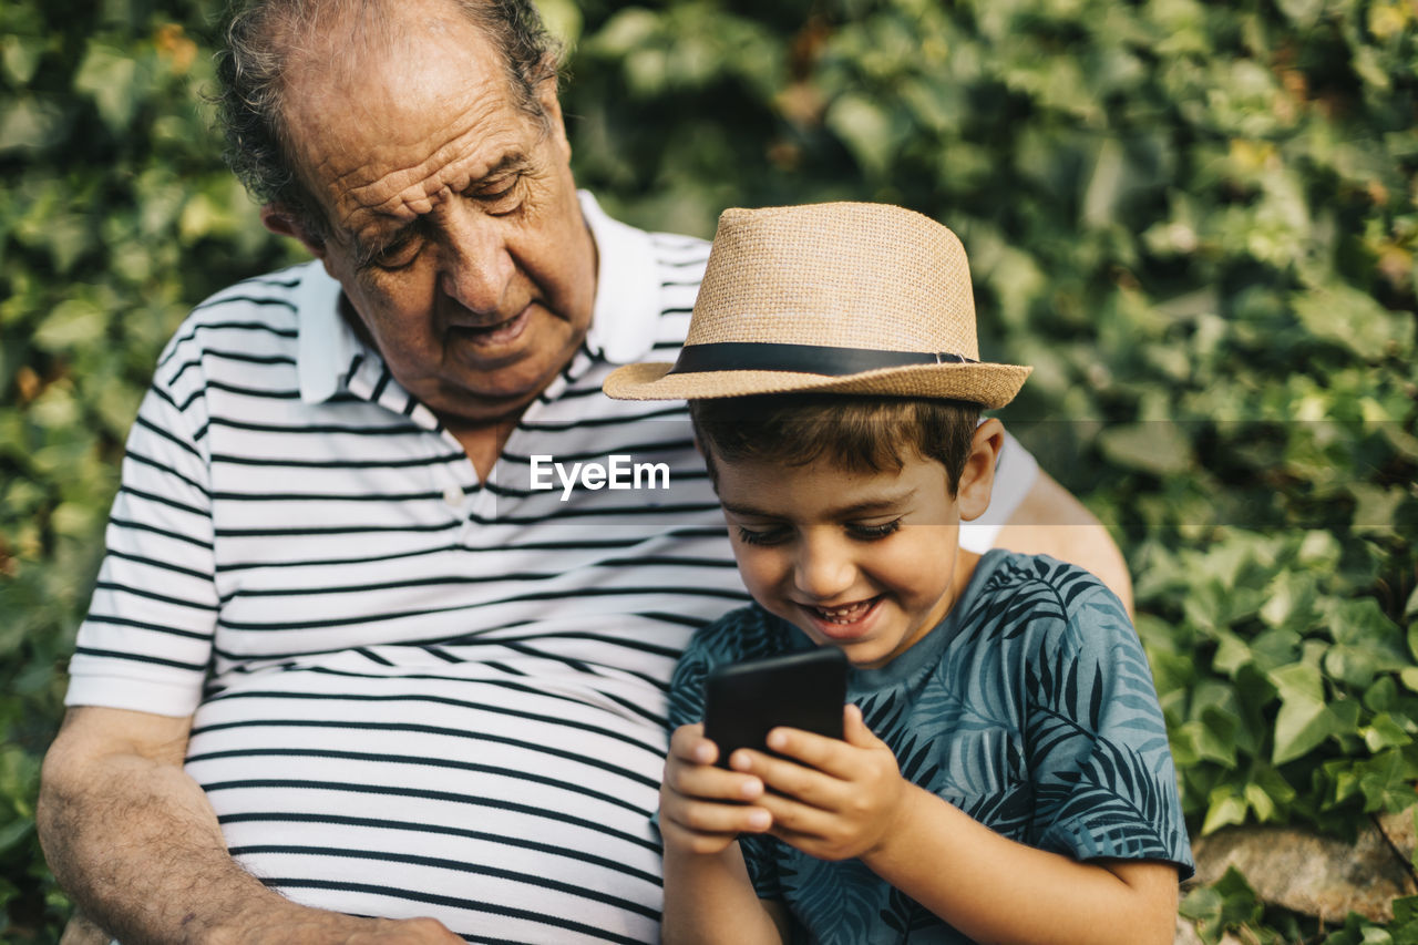
[[[116, 464], [186, 309], [291, 261], [210, 133], [199, 0], [0, 4], [0, 936], [58, 936], [38, 763]], [[1004, 414], [1115, 531], [1194, 833], [1347, 834], [1418, 778], [1418, 1], [545, 0], [615, 214], [951, 226]], [[1214, 938], [1327, 935], [1239, 877]]]

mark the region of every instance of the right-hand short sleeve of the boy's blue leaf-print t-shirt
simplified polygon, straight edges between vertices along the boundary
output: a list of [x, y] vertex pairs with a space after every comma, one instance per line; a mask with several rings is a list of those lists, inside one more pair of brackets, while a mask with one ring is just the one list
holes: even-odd
[[1151, 671], [1122, 603], [1069, 568], [1066, 602], [1025, 684], [1032, 846], [1078, 860], [1166, 860], [1194, 871]]

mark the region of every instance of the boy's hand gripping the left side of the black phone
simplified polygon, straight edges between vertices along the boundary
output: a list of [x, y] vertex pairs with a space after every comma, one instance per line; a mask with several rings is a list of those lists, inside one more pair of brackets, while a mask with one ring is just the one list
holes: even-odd
[[740, 833], [761, 833], [773, 823], [767, 810], [749, 803], [761, 800], [763, 782], [716, 768], [718, 756], [703, 724], [681, 725], [669, 738], [659, 785], [659, 833], [666, 851], [722, 853]]

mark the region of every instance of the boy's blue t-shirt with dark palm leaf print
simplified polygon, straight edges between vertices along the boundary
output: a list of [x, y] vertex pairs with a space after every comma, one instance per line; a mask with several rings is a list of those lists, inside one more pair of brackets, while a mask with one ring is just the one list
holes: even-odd
[[[703, 717], [709, 670], [811, 647], [757, 604], [726, 614], [685, 651], [671, 724]], [[997, 833], [1076, 860], [1166, 860], [1191, 875], [1147, 657], [1089, 572], [986, 553], [934, 630], [885, 667], [849, 670], [848, 700], [905, 778]], [[784, 901], [817, 941], [970, 941], [859, 860], [817, 860], [764, 836], [740, 846], [759, 895]]]

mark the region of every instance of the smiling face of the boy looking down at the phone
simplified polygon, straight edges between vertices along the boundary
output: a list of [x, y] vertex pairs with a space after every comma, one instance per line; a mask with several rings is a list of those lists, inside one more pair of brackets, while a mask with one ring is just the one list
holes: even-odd
[[[900, 472], [713, 460], [739, 573], [754, 599], [858, 667], [905, 653], [949, 613], [974, 572], [946, 468], [913, 457]], [[967, 464], [973, 481], [983, 464]], [[988, 455], [993, 478], [994, 455]], [[976, 491], [964, 488], [967, 516]], [[988, 488], [984, 492], [988, 504]]]

